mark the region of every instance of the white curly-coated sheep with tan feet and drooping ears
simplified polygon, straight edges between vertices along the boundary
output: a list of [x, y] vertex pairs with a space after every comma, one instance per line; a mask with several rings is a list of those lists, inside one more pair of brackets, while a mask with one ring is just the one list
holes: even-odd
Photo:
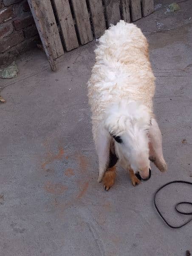
[[135, 186], [138, 178], [149, 178], [150, 160], [162, 172], [167, 169], [153, 114], [155, 77], [147, 39], [136, 25], [120, 20], [105, 31], [95, 53], [88, 97], [99, 157], [98, 181], [103, 180], [108, 190], [119, 160]]

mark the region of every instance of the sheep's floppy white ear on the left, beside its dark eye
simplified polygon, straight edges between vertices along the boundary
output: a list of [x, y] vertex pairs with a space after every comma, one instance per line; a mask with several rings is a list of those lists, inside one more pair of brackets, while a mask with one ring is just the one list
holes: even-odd
[[109, 162], [110, 151], [110, 134], [107, 131], [100, 129], [94, 136], [96, 152], [99, 158], [99, 177], [98, 181], [101, 182], [106, 172]]

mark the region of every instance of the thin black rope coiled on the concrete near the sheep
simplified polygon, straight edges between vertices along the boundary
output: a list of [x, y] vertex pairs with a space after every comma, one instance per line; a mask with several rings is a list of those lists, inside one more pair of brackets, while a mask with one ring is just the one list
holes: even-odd
[[[164, 216], [162, 215], [162, 213], [160, 212], [160, 210], [158, 209], [157, 207], [157, 204], [156, 204], [156, 195], [158, 194], [158, 192], [163, 189], [165, 186], [168, 186], [169, 184], [172, 184], [172, 183], [185, 183], [185, 184], [189, 184], [189, 185], [192, 185], [192, 182], [189, 182], [189, 181], [183, 181], [183, 180], [174, 180], [174, 181], [171, 181], [171, 182], [168, 182], [166, 183], [165, 185], [161, 186], [156, 192], [155, 192], [155, 196], [154, 196], [154, 205], [155, 205], [155, 208], [158, 212], [158, 214], [161, 216], [161, 218], [164, 220], [164, 222], [171, 228], [180, 228], [180, 227], [183, 227], [185, 226], [187, 223], [189, 223], [190, 221], [192, 221], [192, 218], [190, 218], [188, 221], [186, 221], [184, 224], [180, 225], [180, 226], [172, 226], [171, 224], [169, 224], [166, 219], [164, 218]], [[177, 212], [183, 214], [183, 215], [192, 215], [192, 212], [182, 212], [180, 210], [178, 210], [178, 206], [181, 205], [181, 204], [189, 204], [189, 205], [192, 205], [192, 202], [179, 202], [175, 205], [175, 209]]]

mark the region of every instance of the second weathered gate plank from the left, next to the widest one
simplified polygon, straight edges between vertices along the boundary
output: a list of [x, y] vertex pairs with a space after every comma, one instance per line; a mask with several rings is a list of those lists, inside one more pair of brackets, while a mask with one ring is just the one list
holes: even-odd
[[75, 26], [68, 0], [53, 0], [59, 24], [62, 30], [62, 37], [65, 49], [71, 51], [79, 46], [76, 37]]

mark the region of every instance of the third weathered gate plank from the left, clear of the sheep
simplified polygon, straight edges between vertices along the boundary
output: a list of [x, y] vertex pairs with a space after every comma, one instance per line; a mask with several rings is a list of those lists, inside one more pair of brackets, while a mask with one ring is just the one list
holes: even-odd
[[93, 40], [86, 0], [71, 0], [81, 44]]

